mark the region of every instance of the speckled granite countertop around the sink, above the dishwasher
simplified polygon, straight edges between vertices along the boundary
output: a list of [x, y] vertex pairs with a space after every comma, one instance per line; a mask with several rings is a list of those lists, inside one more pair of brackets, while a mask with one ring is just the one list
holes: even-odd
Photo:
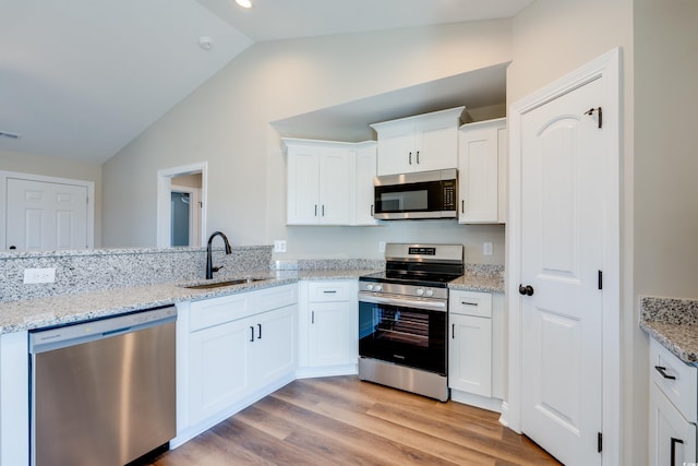
[[[264, 278], [245, 285], [190, 289], [182, 282], [110, 288], [47, 298], [0, 303], [0, 334], [105, 318], [141, 309], [169, 306], [182, 301], [215, 298], [253, 289], [297, 283], [301, 279], [356, 279], [374, 270], [278, 271], [220, 276], [216, 282], [237, 277]], [[197, 284], [197, 282], [185, 282]]]

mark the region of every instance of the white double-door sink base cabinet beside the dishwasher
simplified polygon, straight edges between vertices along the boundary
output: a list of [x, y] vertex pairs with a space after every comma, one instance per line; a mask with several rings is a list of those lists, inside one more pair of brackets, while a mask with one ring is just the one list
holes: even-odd
[[178, 306], [177, 446], [293, 380], [297, 285]]

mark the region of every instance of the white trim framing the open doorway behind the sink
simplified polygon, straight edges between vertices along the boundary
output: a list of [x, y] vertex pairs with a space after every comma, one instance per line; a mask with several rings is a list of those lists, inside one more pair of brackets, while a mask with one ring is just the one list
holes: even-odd
[[170, 192], [172, 178], [182, 175], [201, 174], [201, 244], [204, 246], [206, 237], [206, 211], [208, 210], [208, 163], [184, 165], [181, 167], [163, 168], [157, 170], [157, 247], [170, 247]]

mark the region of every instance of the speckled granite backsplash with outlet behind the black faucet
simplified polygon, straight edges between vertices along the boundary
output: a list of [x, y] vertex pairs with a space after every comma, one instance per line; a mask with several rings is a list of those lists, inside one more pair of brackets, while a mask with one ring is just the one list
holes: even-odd
[[[268, 271], [272, 246], [215, 248], [221, 275]], [[56, 268], [56, 283], [24, 284], [25, 268]], [[0, 302], [204, 278], [206, 248], [98, 249], [0, 254]]]

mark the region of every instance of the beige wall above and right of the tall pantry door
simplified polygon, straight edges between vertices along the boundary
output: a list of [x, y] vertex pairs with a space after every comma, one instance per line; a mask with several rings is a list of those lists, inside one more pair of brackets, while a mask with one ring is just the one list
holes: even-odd
[[623, 48], [623, 464], [647, 464], [648, 338], [639, 295], [698, 290], [698, 3], [538, 0], [514, 20], [514, 103]]

